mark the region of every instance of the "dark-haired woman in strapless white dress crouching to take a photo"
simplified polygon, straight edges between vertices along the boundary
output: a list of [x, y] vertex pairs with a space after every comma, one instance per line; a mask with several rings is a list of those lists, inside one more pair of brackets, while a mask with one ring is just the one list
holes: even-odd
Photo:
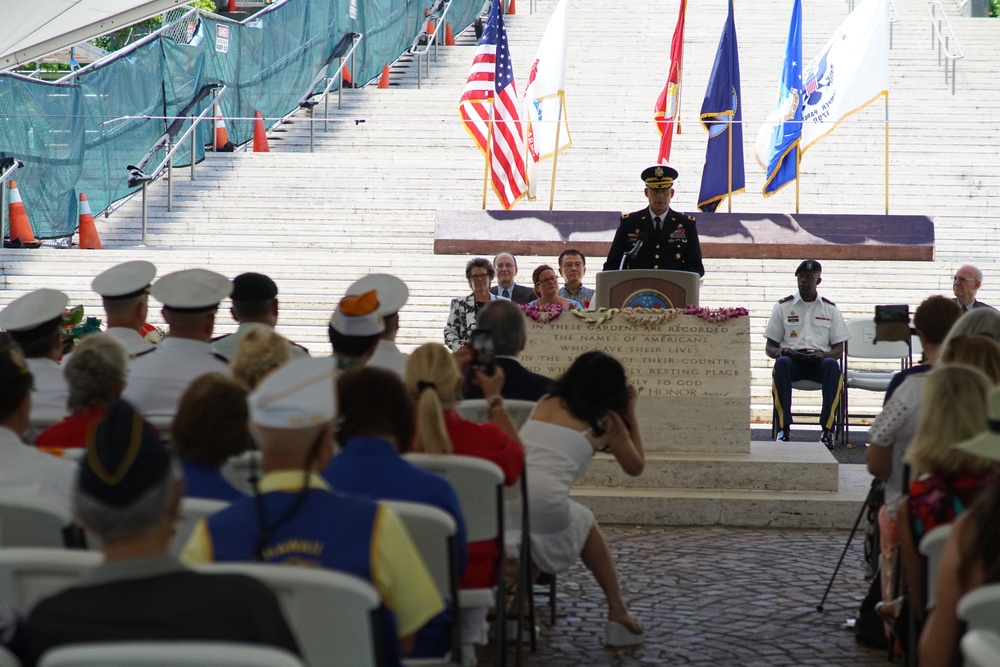
[[635, 388], [618, 360], [587, 352], [556, 380], [521, 428], [533, 560], [542, 571], [559, 574], [577, 557], [583, 559], [608, 600], [608, 646], [642, 642], [642, 623], [628, 612], [611, 551], [593, 513], [570, 499], [569, 489], [599, 451], [614, 456], [627, 474], [642, 473], [645, 454], [635, 402]]

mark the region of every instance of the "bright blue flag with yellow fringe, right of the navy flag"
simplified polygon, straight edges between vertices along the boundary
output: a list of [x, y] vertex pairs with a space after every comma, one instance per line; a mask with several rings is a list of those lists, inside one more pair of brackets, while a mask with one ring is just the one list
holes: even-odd
[[781, 67], [778, 102], [757, 133], [757, 162], [766, 172], [764, 196], [770, 197], [799, 175], [802, 139], [802, 0], [792, 5], [792, 20]]

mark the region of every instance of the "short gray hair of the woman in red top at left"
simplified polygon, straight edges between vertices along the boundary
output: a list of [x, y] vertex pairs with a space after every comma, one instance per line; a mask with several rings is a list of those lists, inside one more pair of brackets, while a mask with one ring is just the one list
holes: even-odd
[[125, 348], [107, 334], [87, 336], [73, 348], [63, 375], [69, 385], [70, 412], [88, 405], [110, 407], [125, 387]]

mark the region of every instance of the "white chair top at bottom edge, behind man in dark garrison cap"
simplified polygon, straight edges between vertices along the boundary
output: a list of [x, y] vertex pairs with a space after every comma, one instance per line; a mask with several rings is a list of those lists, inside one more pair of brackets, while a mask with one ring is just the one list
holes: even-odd
[[238, 642], [98, 642], [45, 652], [39, 667], [305, 667], [275, 646]]

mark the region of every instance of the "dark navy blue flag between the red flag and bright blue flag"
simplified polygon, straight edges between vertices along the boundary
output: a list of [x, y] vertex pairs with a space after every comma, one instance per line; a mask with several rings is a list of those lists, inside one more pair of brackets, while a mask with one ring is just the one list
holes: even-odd
[[701, 211], [714, 212], [720, 201], [731, 193], [743, 192], [746, 186], [742, 106], [740, 53], [736, 46], [733, 0], [729, 0], [729, 16], [722, 29], [712, 76], [701, 105], [701, 125], [708, 132], [705, 168], [701, 172], [701, 192], [698, 195], [698, 209]]

